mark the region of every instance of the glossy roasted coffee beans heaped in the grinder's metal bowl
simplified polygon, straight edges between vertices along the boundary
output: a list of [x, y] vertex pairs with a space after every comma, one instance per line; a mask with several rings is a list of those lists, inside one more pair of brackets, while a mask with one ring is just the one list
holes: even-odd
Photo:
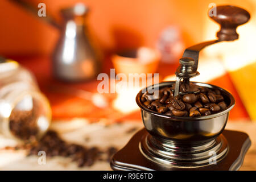
[[[143, 105], [152, 111], [177, 117], [199, 117], [225, 110], [227, 105], [218, 89], [209, 89], [195, 84], [180, 85], [181, 92], [193, 90], [194, 93], [174, 97], [175, 84], [159, 89], [159, 94], [142, 94]], [[196, 93], [196, 94], [195, 94]]]

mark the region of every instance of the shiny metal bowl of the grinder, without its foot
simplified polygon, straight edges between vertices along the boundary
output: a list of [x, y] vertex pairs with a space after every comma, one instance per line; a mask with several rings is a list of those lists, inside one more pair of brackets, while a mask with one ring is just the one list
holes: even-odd
[[[227, 109], [216, 114], [195, 118], [168, 116], [147, 109], [140, 100], [142, 96], [141, 91], [137, 94], [136, 101], [138, 106], [141, 107], [142, 120], [148, 133], [162, 140], [171, 140], [172, 142], [184, 144], [209, 142], [222, 133], [228, 121], [229, 111], [234, 107], [234, 97], [218, 86], [199, 82], [193, 83], [207, 86], [208, 88], [220, 89], [228, 105]], [[171, 84], [174, 84], [174, 81], [162, 82], [158, 85], [160, 89]], [[148, 88], [151, 88], [151, 86]]]

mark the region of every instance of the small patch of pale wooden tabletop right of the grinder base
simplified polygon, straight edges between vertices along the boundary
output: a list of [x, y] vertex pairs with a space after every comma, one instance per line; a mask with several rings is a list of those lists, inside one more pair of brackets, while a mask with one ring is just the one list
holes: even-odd
[[228, 122], [226, 129], [247, 133], [251, 139], [251, 147], [245, 155], [240, 171], [256, 171], [256, 123]]

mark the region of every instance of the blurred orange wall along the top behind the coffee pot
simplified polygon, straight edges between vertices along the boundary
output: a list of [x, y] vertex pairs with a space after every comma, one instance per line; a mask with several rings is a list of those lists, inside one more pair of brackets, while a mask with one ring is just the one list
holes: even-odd
[[[112, 52], [134, 46], [155, 47], [163, 28], [180, 28], [186, 46], [203, 41], [205, 15], [209, 3], [232, 4], [254, 11], [254, 0], [44, 0], [27, 1], [39, 9], [46, 3], [46, 14], [61, 20], [61, 7], [84, 2], [90, 8], [87, 17], [90, 32], [98, 40], [102, 51]], [[0, 54], [27, 55], [51, 53], [59, 30], [40, 20], [11, 1], [0, 1]], [[216, 25], [217, 26], [217, 25]]]

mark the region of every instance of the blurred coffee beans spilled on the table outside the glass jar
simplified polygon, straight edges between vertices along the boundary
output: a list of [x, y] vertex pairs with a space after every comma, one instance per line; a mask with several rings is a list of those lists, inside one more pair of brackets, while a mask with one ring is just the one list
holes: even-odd
[[39, 151], [44, 151], [48, 157], [62, 156], [71, 158], [73, 162], [77, 163], [78, 167], [92, 166], [97, 160], [110, 162], [112, 155], [117, 152], [117, 148], [113, 146], [106, 148], [106, 150], [100, 150], [98, 147], [85, 147], [65, 142], [52, 130], [47, 131], [40, 140], [27, 141], [19, 146], [6, 147], [5, 149], [28, 150], [28, 156], [38, 156]]

